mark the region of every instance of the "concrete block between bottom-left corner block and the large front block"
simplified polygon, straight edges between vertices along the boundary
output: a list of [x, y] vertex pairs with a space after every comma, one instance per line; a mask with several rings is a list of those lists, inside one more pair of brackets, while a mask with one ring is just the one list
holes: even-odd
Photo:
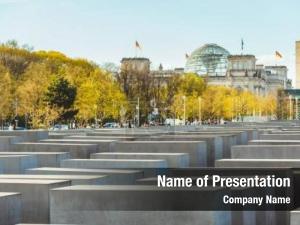
[[49, 222], [49, 190], [71, 185], [66, 180], [0, 179], [0, 192], [19, 192], [22, 222]]

